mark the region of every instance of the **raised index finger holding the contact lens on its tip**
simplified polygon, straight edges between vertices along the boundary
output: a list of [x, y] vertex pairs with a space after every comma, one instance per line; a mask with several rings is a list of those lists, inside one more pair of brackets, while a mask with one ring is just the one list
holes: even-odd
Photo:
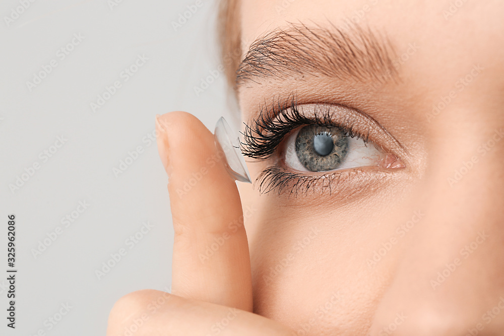
[[172, 293], [251, 311], [241, 201], [222, 152], [213, 134], [189, 113], [170, 112], [156, 120], [175, 231]]

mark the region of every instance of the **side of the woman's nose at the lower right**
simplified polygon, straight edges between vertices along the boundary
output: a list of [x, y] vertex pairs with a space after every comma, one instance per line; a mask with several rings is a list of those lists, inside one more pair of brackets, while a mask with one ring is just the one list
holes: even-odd
[[455, 158], [435, 158], [415, 207], [425, 216], [405, 237], [372, 335], [504, 332], [504, 309], [498, 308], [504, 298], [503, 145], [495, 142], [484, 155], [477, 145]]

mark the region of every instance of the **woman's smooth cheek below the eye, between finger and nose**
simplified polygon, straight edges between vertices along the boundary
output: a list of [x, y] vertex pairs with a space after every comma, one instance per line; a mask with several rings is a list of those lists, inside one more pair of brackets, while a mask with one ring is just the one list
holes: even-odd
[[245, 221], [254, 311], [298, 334], [366, 334], [402, 247], [375, 267], [367, 260], [411, 208], [404, 195], [376, 192], [341, 204], [331, 197], [286, 200], [240, 184], [244, 209], [254, 209]]

